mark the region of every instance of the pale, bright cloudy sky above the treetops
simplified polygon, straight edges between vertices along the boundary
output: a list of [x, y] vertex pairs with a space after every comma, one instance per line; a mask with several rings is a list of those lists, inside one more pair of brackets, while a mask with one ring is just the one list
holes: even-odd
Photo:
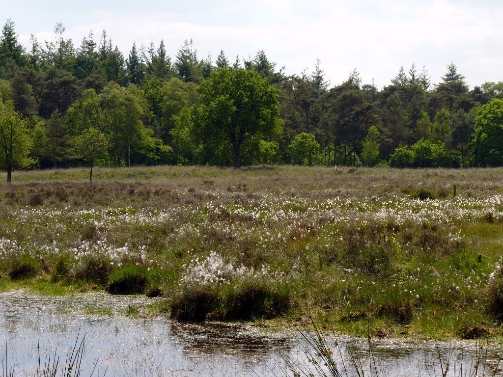
[[356, 68], [378, 88], [412, 63], [425, 65], [432, 83], [451, 62], [470, 87], [503, 80], [502, 16], [500, 0], [0, 0], [0, 22], [12, 19], [27, 48], [30, 34], [55, 41], [62, 22], [77, 47], [91, 30], [99, 42], [105, 29], [125, 57], [133, 41], [163, 39], [174, 59], [192, 39], [199, 58], [214, 60], [223, 49], [242, 61], [263, 49], [287, 74], [309, 73], [319, 58], [330, 86]]

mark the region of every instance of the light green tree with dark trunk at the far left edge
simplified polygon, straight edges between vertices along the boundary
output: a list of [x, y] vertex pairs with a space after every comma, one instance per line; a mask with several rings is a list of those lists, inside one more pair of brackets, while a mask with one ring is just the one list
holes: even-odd
[[0, 165], [7, 170], [7, 182], [15, 168], [25, 168], [35, 163], [30, 156], [33, 142], [26, 123], [14, 110], [12, 102], [0, 102]]

